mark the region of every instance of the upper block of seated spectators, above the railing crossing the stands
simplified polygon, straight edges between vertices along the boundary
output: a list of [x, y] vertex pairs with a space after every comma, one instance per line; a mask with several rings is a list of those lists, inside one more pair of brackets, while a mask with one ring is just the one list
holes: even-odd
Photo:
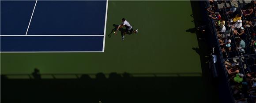
[[[219, 3], [225, 6], [218, 8]], [[214, 19], [216, 33], [224, 58], [256, 53], [256, 1], [238, 4], [236, 0], [217, 2], [210, 1], [207, 8], [209, 17]], [[226, 5], [230, 5], [227, 7]]]

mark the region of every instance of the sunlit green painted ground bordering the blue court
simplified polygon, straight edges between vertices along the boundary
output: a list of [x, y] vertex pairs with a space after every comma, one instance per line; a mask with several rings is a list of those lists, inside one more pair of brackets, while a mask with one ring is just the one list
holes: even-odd
[[104, 53], [1, 53], [1, 74], [201, 72], [190, 1], [109, 1], [106, 35], [126, 18], [137, 35], [105, 38]]

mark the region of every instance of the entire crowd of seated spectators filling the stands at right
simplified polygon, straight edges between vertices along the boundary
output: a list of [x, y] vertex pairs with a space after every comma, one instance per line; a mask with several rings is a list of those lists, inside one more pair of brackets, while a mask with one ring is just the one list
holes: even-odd
[[[235, 103], [256, 103], [256, 0], [209, 0]], [[220, 4], [223, 7], [218, 7]]]

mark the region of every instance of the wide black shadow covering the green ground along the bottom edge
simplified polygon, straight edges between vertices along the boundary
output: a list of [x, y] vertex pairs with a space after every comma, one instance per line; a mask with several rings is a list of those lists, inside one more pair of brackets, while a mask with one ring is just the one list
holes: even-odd
[[[3, 103], [204, 103], [202, 77], [103, 73], [92, 78], [3, 79]], [[184, 99], [185, 96], [185, 99]], [[50, 101], [50, 102], [49, 102]]]

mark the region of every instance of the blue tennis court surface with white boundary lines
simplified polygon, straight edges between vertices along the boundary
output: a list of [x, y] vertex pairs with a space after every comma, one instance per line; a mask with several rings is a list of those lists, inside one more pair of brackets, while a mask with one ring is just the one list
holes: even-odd
[[102, 52], [106, 0], [1, 0], [1, 52]]

